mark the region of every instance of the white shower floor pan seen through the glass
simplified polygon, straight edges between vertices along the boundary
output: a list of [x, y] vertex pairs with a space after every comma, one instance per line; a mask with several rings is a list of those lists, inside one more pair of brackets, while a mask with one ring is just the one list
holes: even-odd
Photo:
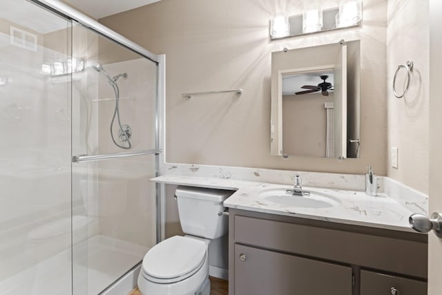
[[[93, 236], [73, 249], [41, 261], [0, 282], [1, 295], [96, 295], [140, 263], [148, 247], [106, 236]], [[87, 253], [87, 256], [86, 256]]]

